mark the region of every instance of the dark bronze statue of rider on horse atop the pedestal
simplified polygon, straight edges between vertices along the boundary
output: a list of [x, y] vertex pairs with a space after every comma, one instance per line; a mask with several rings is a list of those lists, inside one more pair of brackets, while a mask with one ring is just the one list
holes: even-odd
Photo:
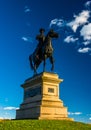
[[54, 58], [53, 58], [53, 47], [52, 38], [58, 38], [58, 33], [50, 29], [47, 35], [44, 35], [45, 29], [41, 28], [40, 34], [36, 36], [38, 45], [35, 51], [29, 56], [30, 67], [34, 70], [34, 75], [37, 74], [37, 68], [43, 61], [43, 71], [45, 71], [46, 59], [49, 58], [52, 64], [51, 71], [54, 70]]

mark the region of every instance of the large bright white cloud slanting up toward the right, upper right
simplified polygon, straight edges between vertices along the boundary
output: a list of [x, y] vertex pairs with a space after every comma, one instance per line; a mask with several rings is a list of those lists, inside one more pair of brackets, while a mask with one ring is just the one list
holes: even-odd
[[88, 18], [90, 17], [90, 11], [83, 10], [78, 15], [74, 15], [74, 20], [67, 23], [67, 26], [70, 26], [74, 32], [76, 32], [77, 28], [81, 25], [88, 23]]

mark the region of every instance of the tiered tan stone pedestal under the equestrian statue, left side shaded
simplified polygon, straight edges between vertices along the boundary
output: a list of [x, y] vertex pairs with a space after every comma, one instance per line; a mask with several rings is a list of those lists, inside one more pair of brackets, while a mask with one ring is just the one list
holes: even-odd
[[16, 119], [69, 120], [67, 108], [59, 99], [59, 83], [62, 81], [57, 74], [47, 72], [27, 79], [22, 84], [24, 99], [16, 111]]

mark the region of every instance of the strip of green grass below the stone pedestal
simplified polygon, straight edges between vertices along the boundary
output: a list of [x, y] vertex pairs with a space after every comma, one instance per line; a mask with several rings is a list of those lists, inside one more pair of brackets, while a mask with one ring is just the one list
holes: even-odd
[[11, 120], [1, 121], [0, 130], [91, 130], [91, 125], [62, 120]]

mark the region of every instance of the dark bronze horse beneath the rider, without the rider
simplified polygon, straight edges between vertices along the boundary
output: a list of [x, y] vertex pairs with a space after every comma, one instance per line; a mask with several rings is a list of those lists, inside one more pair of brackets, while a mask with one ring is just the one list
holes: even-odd
[[37, 74], [36, 70], [42, 61], [44, 61], [43, 71], [45, 71], [45, 61], [47, 58], [49, 58], [50, 63], [52, 64], [51, 71], [54, 70], [52, 38], [58, 38], [58, 33], [51, 29], [46, 35], [45, 40], [37, 54], [36, 51], [34, 51], [33, 54], [29, 56], [30, 66], [34, 70], [34, 74]]

